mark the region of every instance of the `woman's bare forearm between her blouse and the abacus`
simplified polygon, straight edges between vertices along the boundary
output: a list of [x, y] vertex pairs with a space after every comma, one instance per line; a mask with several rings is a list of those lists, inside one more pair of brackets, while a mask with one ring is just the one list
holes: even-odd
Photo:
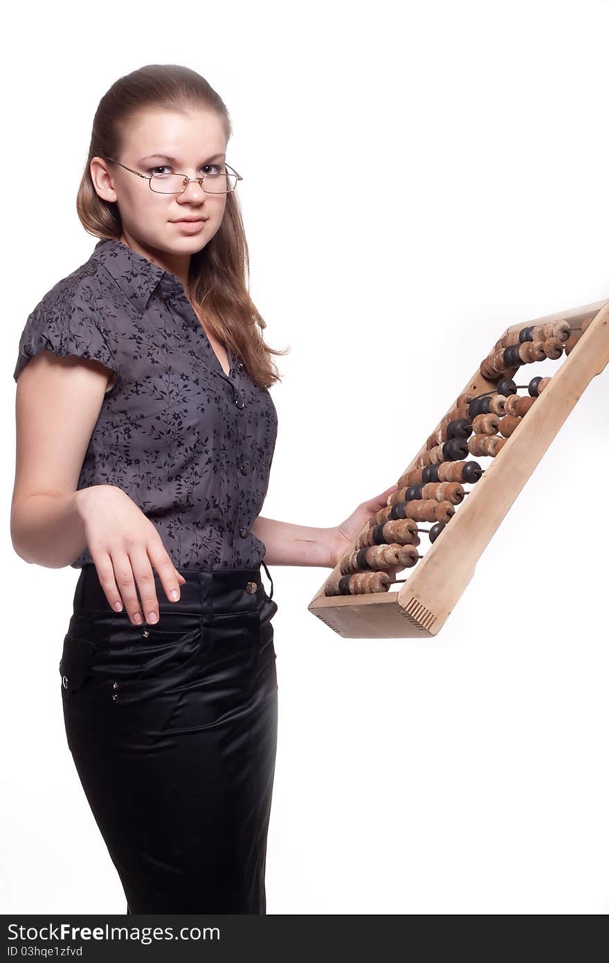
[[266, 545], [267, 565], [317, 565], [334, 568], [336, 529], [293, 525], [259, 515], [251, 531]]

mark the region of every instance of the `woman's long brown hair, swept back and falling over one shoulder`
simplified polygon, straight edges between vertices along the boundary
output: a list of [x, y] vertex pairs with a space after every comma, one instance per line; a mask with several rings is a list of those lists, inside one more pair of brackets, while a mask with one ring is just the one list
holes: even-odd
[[[142, 108], [165, 110], [199, 109], [216, 111], [228, 142], [232, 127], [223, 100], [189, 67], [149, 64], [119, 77], [101, 98], [91, 130], [89, 156], [78, 189], [76, 209], [85, 230], [97, 238], [119, 240], [122, 221], [118, 205], [100, 197], [93, 186], [90, 162], [93, 157], [118, 157], [121, 130]], [[246, 280], [247, 278], [247, 280]], [[221, 224], [212, 240], [190, 257], [189, 289], [195, 309], [216, 334], [239, 355], [248, 374], [261, 387], [280, 381], [271, 354], [286, 354], [269, 348], [262, 330], [266, 322], [249, 296], [249, 253], [235, 191], [226, 195]]]

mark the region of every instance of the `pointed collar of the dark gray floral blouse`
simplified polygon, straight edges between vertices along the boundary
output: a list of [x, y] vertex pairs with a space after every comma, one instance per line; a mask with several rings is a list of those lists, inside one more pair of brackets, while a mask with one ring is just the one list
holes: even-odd
[[91, 257], [104, 266], [123, 294], [143, 314], [156, 287], [163, 281], [165, 289], [180, 289], [182, 282], [168, 271], [153, 264], [115, 238], [101, 238], [93, 248]]

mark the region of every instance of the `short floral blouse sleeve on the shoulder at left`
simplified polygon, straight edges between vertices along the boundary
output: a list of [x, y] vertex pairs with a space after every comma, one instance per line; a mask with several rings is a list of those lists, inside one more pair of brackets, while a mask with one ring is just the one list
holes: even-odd
[[99, 361], [115, 372], [118, 383], [120, 375], [111, 332], [100, 323], [90, 298], [74, 293], [66, 295], [56, 289], [45, 295], [21, 333], [13, 371], [15, 381], [30, 358], [45, 349], [61, 357], [76, 354]]

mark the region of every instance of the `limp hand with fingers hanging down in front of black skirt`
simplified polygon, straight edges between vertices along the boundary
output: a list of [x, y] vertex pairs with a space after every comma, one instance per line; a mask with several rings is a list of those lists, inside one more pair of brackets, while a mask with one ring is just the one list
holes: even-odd
[[186, 579], [169, 558], [152, 522], [117, 485], [81, 488], [76, 492], [76, 505], [85, 527], [89, 555], [114, 611], [120, 612], [124, 603], [134, 625], [158, 622], [153, 567], [170, 602], [180, 598], [180, 586]]

